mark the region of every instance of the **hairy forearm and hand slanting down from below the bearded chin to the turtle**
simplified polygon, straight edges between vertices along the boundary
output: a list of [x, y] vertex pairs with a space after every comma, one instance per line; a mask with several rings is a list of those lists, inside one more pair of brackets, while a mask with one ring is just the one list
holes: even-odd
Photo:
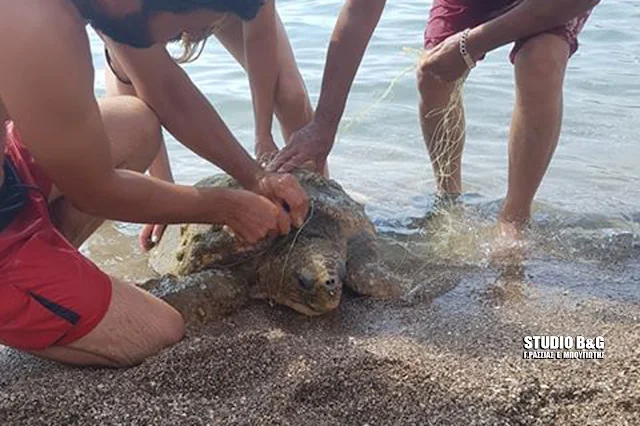
[[108, 39], [107, 43], [137, 95], [178, 141], [222, 168], [244, 188], [285, 208], [294, 225], [304, 222], [308, 198], [297, 180], [265, 173], [164, 46], [141, 50]]

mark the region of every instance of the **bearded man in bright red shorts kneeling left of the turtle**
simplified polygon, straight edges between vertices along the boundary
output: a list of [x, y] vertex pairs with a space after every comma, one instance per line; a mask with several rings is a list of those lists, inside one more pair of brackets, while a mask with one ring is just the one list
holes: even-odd
[[0, 0], [0, 344], [75, 364], [128, 366], [179, 341], [180, 314], [110, 277], [78, 247], [103, 218], [221, 223], [255, 242], [299, 225], [308, 198], [234, 143], [184, 142], [246, 190], [179, 186], [143, 172], [160, 145], [140, 100], [97, 100], [85, 26], [147, 50], [261, 0]]

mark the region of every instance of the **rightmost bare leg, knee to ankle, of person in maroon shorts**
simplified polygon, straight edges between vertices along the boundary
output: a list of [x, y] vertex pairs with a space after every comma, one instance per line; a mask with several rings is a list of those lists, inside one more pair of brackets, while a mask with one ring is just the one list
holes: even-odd
[[526, 42], [515, 58], [516, 103], [509, 136], [509, 187], [501, 228], [517, 236], [558, 144], [569, 45], [553, 34]]

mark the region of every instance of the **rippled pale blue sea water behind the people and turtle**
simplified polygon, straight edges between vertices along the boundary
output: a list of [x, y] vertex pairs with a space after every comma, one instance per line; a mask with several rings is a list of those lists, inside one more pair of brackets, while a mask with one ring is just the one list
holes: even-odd
[[[343, 2], [279, 0], [312, 102], [318, 97], [328, 41]], [[351, 92], [336, 146], [332, 177], [366, 204], [379, 229], [413, 244], [425, 259], [486, 260], [486, 229], [506, 192], [507, 135], [513, 108], [511, 46], [488, 55], [465, 88], [468, 138], [463, 160], [466, 208], [416, 229], [429, 212], [434, 180], [418, 125], [415, 66], [431, 2], [389, 1]], [[536, 198], [533, 239], [538, 257], [569, 262], [623, 262], [638, 270], [640, 252], [640, 4], [609, 0], [598, 6], [580, 37], [565, 85], [560, 144]], [[92, 34], [96, 91], [104, 93], [104, 57]], [[215, 40], [186, 66], [245, 148], [253, 146], [249, 84]], [[383, 96], [384, 95], [384, 96]], [[277, 132], [275, 132], [277, 133]], [[194, 183], [215, 167], [167, 135], [174, 174]], [[213, 141], [212, 141], [213, 143]], [[111, 224], [85, 250], [130, 275], [144, 258], [137, 226]], [[131, 250], [122, 250], [131, 247]], [[135, 275], [135, 274], [134, 274]], [[634, 282], [640, 277], [628, 276]], [[637, 280], [637, 281], [636, 281]]]

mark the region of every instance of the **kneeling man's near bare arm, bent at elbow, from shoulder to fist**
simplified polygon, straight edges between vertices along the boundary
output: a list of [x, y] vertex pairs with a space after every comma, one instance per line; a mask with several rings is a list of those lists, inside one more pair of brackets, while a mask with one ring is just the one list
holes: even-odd
[[0, 18], [0, 94], [24, 144], [71, 203], [127, 222], [227, 224], [254, 241], [278, 229], [279, 209], [266, 198], [114, 169], [84, 25], [53, 2], [42, 8], [33, 14], [18, 4]]

